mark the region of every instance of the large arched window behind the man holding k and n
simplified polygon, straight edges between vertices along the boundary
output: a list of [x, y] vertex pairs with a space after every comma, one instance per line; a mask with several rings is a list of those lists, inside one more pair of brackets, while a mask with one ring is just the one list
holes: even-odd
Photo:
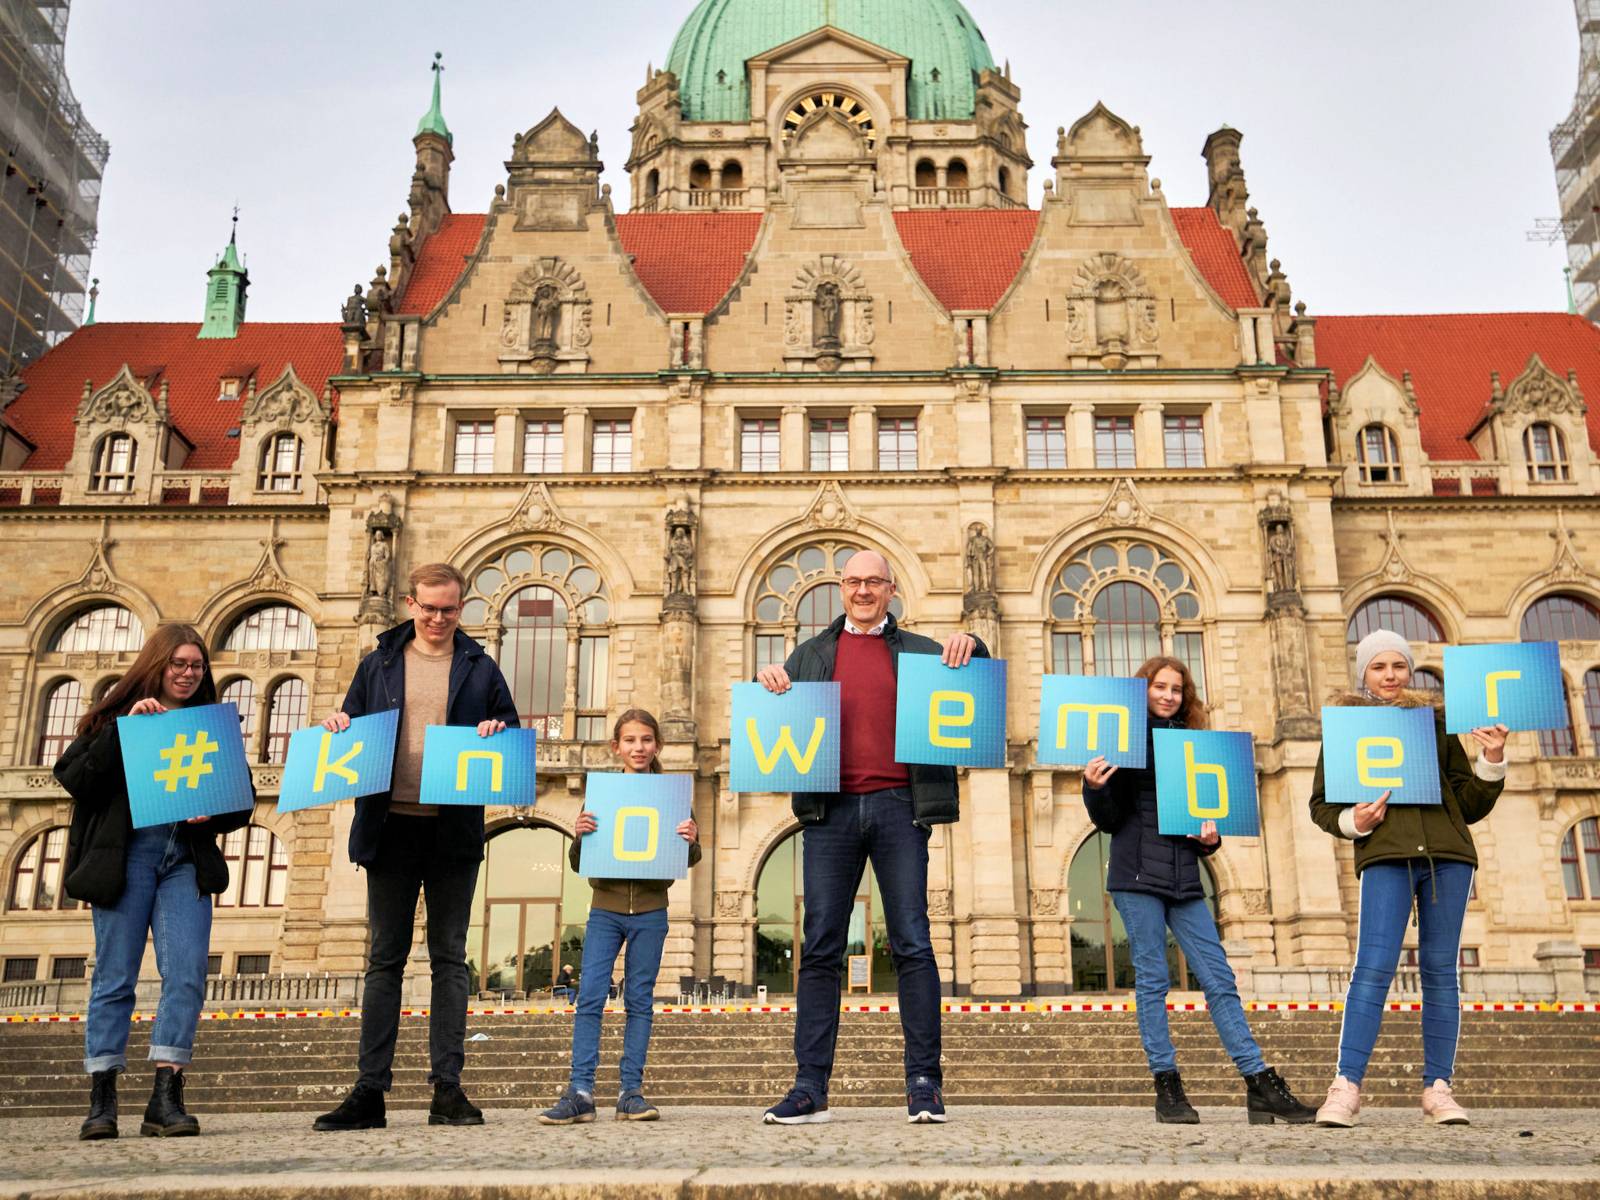
[[610, 736], [611, 592], [582, 554], [506, 550], [472, 576], [461, 624], [499, 662], [523, 728], [541, 738]]

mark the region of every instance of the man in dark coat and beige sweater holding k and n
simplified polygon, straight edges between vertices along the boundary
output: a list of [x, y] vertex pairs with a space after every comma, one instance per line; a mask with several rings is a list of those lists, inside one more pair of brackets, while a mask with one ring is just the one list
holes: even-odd
[[[322, 725], [347, 730], [352, 717], [400, 710], [390, 790], [355, 802], [350, 862], [366, 869], [371, 946], [362, 994], [360, 1078], [322, 1131], [381, 1130], [400, 1032], [400, 989], [411, 952], [416, 898], [427, 904], [427, 957], [434, 974], [427, 1040], [434, 1085], [429, 1125], [482, 1125], [461, 1090], [467, 1037], [467, 925], [483, 861], [483, 810], [418, 803], [422, 739], [429, 725], [475, 725], [491, 738], [517, 725], [517, 704], [499, 664], [462, 634], [467, 581], [450, 563], [411, 571], [405, 598], [411, 619], [381, 634], [362, 659], [344, 707]], [[531, 797], [530, 797], [531, 800]]]

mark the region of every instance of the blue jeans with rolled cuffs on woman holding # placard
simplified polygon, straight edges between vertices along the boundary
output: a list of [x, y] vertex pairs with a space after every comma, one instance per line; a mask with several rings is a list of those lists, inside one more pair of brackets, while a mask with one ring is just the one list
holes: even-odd
[[186, 1064], [205, 1000], [211, 949], [211, 898], [200, 894], [189, 842], [178, 826], [134, 829], [128, 842], [122, 896], [96, 904], [94, 981], [83, 1022], [83, 1069], [125, 1070], [144, 939], [155, 934], [162, 998], [150, 1027], [150, 1061]]

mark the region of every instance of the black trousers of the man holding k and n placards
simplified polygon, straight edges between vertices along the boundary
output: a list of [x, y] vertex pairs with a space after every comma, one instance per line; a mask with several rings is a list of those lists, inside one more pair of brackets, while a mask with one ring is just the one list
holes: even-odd
[[395, 1037], [400, 1034], [400, 986], [411, 954], [418, 891], [427, 904], [427, 960], [434, 971], [429, 1002], [429, 1083], [459, 1083], [467, 1037], [467, 925], [477, 862], [440, 862], [434, 851], [435, 818], [384, 821], [378, 861], [366, 872], [366, 990], [362, 997], [362, 1083], [389, 1091]]

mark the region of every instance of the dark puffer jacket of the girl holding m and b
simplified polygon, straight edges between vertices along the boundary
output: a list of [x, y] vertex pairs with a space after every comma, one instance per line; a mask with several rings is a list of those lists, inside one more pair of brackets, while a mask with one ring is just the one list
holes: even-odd
[[1200, 859], [1222, 845], [1203, 846], [1190, 837], [1162, 834], [1155, 810], [1155, 730], [1182, 728], [1150, 717], [1147, 768], [1123, 766], [1104, 787], [1083, 784], [1083, 803], [1094, 827], [1110, 834], [1107, 891], [1144, 891], [1170, 901], [1203, 899]]

